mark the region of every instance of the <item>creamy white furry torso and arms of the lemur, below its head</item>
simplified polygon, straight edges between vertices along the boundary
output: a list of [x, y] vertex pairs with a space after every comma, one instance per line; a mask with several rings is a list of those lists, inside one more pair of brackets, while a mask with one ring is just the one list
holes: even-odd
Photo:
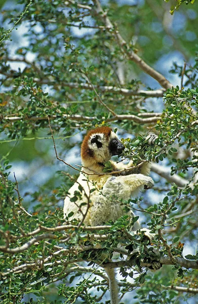
[[[117, 165], [114, 162], [111, 163], [115, 166]], [[119, 165], [121, 167], [121, 163]], [[131, 165], [132, 163], [130, 162], [128, 167], [130, 168]], [[122, 163], [122, 169], [124, 167], [127, 166]], [[149, 167], [149, 164], [147, 164], [146, 169], [149, 170]], [[71, 202], [70, 198], [74, 197], [74, 192], [79, 192], [79, 185], [83, 188], [82, 198]], [[81, 173], [77, 181], [70, 188], [69, 195], [65, 198], [64, 215], [67, 216], [67, 214], [73, 212], [73, 215], [69, 218], [70, 220], [74, 218], [82, 220], [83, 214], [87, 211], [87, 205], [81, 207], [81, 204], [89, 203], [90, 208], [84, 220], [86, 225], [101, 225], [110, 219], [115, 221], [125, 214], [122, 202], [128, 201], [132, 197], [135, 198], [139, 191], [143, 190], [144, 185], [148, 187], [153, 186], [152, 178], [144, 174], [86, 176]], [[130, 211], [130, 213], [132, 216], [134, 215], [132, 211]], [[134, 230], [138, 229], [140, 229], [140, 225], [137, 222], [137, 227], [134, 227]]]

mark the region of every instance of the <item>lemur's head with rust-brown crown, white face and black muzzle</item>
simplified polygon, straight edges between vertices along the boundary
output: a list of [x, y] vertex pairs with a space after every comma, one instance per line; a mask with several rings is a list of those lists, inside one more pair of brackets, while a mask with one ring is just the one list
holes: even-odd
[[109, 127], [99, 127], [90, 130], [85, 136], [81, 146], [83, 164], [104, 164], [111, 156], [119, 155], [125, 146]]

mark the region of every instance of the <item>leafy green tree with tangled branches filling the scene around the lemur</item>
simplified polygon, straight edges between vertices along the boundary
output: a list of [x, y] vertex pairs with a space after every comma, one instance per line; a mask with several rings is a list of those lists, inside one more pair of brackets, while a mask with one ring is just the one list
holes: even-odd
[[[190, 2], [21, 0], [3, 8], [2, 303], [109, 303], [104, 266], [120, 274], [123, 303], [196, 302], [197, 8]], [[163, 68], [174, 57], [171, 70]], [[63, 219], [63, 199], [81, 170], [72, 157], [101, 124], [123, 137], [123, 159], [152, 162], [154, 189], [123, 202], [155, 233], [151, 246], [129, 233], [128, 216], [98, 227]], [[150, 132], [158, 135], [152, 145]], [[148, 271], [153, 257], [163, 265], [156, 273]]]

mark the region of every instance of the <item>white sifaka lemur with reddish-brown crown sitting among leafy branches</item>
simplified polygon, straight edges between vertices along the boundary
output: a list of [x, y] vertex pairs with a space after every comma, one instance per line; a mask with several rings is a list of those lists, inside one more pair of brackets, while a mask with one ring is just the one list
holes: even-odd
[[[87, 174], [80, 173], [77, 181], [69, 189], [69, 194], [64, 201], [65, 217], [73, 212], [69, 219], [82, 220], [84, 218], [85, 225], [91, 226], [101, 225], [109, 220], [115, 221], [125, 214], [122, 201], [128, 201], [130, 198], [136, 197], [143, 189], [153, 187], [154, 182], [148, 176], [150, 173], [148, 162], [144, 162], [140, 167], [135, 167], [132, 161], [127, 165], [110, 161], [113, 171], [127, 168], [131, 168], [131, 170], [97, 175], [97, 173], [103, 173], [105, 163], [112, 156], [122, 154], [124, 149], [123, 143], [109, 127], [99, 127], [87, 133], [81, 147], [82, 171]], [[89, 175], [90, 173], [91, 175]], [[79, 192], [79, 185], [82, 186], [82, 196], [77, 201], [71, 202], [70, 199], [74, 197], [75, 191]], [[134, 216], [131, 210], [128, 214]], [[141, 229], [140, 223], [136, 221], [132, 230], [139, 229]], [[153, 236], [148, 229], [141, 230], [144, 231], [145, 236], [152, 239]], [[117, 304], [118, 287], [114, 270], [105, 268], [105, 271], [109, 277], [111, 304]]]

